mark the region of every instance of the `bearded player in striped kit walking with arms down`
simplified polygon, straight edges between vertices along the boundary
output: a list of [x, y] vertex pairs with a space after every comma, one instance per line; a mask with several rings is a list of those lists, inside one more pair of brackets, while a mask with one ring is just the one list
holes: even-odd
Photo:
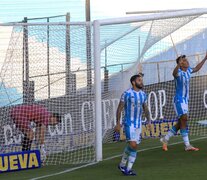
[[137, 147], [141, 140], [143, 110], [147, 118], [148, 128], [151, 126], [151, 120], [147, 106], [147, 96], [142, 91], [143, 74], [139, 73], [138, 75], [132, 76], [130, 81], [132, 88], [122, 94], [117, 108], [117, 124], [115, 130], [117, 132], [120, 131], [121, 112], [124, 109], [125, 117], [123, 124], [128, 144], [124, 149], [118, 168], [125, 175], [134, 176], [136, 173], [132, 170], [132, 166], [136, 160]]

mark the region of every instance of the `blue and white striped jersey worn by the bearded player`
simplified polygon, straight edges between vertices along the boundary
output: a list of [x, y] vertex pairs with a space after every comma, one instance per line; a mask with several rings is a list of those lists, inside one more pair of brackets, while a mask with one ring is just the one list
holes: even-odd
[[124, 124], [141, 128], [142, 106], [147, 101], [146, 93], [142, 90], [137, 92], [130, 88], [122, 94], [121, 101], [124, 102]]

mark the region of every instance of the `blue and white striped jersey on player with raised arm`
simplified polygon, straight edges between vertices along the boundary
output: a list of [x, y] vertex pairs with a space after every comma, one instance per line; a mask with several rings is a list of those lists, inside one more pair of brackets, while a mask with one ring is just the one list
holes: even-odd
[[175, 78], [175, 98], [181, 102], [184, 100], [185, 103], [188, 103], [192, 72], [193, 69], [191, 67], [186, 72], [178, 69], [178, 76]]

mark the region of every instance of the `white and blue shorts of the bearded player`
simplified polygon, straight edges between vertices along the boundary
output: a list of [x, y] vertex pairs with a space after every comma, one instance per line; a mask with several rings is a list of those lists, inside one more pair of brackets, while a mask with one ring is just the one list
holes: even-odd
[[140, 144], [141, 142], [141, 128], [135, 128], [132, 126], [124, 126], [125, 129], [125, 135], [127, 141], [135, 141], [137, 144]]

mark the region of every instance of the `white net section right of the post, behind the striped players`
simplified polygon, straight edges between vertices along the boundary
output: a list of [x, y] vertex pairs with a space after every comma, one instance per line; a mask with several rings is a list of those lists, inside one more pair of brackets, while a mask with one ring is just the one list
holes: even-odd
[[[163, 17], [164, 14], [151, 17], [155, 16]], [[172, 76], [175, 59], [186, 55], [190, 67], [195, 67], [206, 54], [205, 14], [139, 22], [133, 18], [126, 18], [126, 21], [131, 20], [127, 23], [120, 19], [99, 22], [100, 59], [104, 66], [101, 71], [103, 142], [125, 140], [123, 132], [119, 137], [113, 130], [116, 107], [121, 94], [131, 87], [130, 77], [138, 72], [144, 73], [144, 91], [148, 94], [148, 107], [153, 120], [152, 131], [149, 132], [143, 118], [142, 138], [165, 135], [177, 122], [173, 107], [175, 85]], [[207, 64], [204, 64], [198, 73], [193, 74], [190, 84], [188, 128], [190, 135], [194, 136], [203, 136], [207, 132], [206, 69]]]

